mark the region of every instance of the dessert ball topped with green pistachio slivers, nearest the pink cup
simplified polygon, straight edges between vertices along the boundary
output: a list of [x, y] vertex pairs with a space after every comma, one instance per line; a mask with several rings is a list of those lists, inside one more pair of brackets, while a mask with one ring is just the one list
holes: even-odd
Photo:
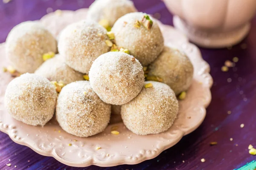
[[[144, 17], [152, 21], [151, 28], [147, 27], [149, 21]], [[116, 45], [127, 48], [143, 66], [153, 62], [163, 51], [163, 35], [157, 21], [145, 13], [125, 14], [116, 21], [111, 31], [115, 34]]]

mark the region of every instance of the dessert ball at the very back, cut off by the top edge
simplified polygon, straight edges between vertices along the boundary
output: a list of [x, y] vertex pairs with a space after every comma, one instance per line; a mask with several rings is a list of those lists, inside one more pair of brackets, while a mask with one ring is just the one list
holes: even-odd
[[95, 0], [89, 7], [87, 18], [96, 22], [107, 20], [112, 27], [118, 18], [136, 11], [131, 0]]

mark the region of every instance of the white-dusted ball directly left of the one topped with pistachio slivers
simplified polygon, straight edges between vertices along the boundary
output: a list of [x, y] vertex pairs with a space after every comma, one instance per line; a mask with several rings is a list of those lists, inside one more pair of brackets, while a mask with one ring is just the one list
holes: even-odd
[[108, 52], [107, 30], [91, 20], [81, 20], [61, 31], [58, 51], [65, 57], [68, 66], [88, 74], [93, 61]]

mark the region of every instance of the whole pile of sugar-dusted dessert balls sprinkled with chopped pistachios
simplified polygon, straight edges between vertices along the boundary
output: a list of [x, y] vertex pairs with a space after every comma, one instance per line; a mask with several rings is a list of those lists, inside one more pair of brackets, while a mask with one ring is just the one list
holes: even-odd
[[39, 22], [20, 23], [7, 37], [6, 56], [21, 74], [6, 89], [8, 113], [34, 126], [55, 113], [67, 133], [80, 137], [105, 130], [111, 112], [139, 135], [168, 130], [176, 96], [193, 77], [189, 58], [164, 46], [157, 21], [130, 0], [96, 0], [87, 19], [64, 28], [58, 42]]

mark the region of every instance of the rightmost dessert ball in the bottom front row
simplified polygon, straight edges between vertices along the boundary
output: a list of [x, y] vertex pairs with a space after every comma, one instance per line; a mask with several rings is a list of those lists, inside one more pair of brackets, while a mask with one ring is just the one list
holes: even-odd
[[[152, 87], [145, 88], [147, 85]], [[172, 126], [178, 109], [175, 93], [168, 85], [148, 81], [137, 97], [121, 106], [121, 116], [125, 126], [133, 133], [156, 134]]]

